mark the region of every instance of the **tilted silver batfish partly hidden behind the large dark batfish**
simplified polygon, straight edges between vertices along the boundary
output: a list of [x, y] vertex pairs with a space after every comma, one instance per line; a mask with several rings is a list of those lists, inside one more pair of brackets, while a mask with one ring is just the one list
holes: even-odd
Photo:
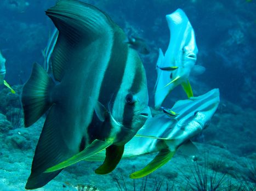
[[[197, 153], [197, 148], [190, 139], [209, 126], [218, 105], [219, 89], [212, 89], [202, 96], [175, 103], [172, 110], [179, 113], [175, 118], [166, 114], [149, 117], [134, 138], [126, 144], [123, 157], [155, 152], [158, 154], [145, 168], [133, 172], [130, 177], [149, 175], [172, 159], [178, 149], [187, 155]], [[104, 160], [104, 157], [105, 152], [100, 152], [86, 160]]]

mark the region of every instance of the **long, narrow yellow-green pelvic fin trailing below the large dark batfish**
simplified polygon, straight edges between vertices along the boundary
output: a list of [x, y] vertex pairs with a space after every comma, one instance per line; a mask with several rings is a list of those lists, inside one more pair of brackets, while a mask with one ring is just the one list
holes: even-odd
[[91, 157], [94, 154], [104, 150], [105, 148], [109, 147], [110, 145], [112, 145], [112, 142], [110, 142], [110, 141], [101, 141], [101, 140], [96, 139], [88, 147], [84, 148], [83, 151], [79, 152], [78, 154], [75, 154], [73, 157], [65, 160], [64, 162], [61, 162], [55, 166], [52, 166], [51, 168], [48, 168], [44, 172], [53, 172], [56, 170], [63, 169], [72, 164], [78, 163], [79, 161], [84, 160], [88, 157]]

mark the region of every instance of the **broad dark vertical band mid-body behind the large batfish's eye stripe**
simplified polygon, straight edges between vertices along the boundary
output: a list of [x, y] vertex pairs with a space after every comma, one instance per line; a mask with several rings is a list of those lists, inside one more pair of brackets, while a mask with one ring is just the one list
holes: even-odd
[[[121, 29], [118, 28], [114, 34], [110, 61], [108, 63], [107, 69], [104, 74], [104, 79], [100, 87], [100, 94], [99, 94], [98, 101], [101, 104], [103, 104], [106, 109], [108, 109], [108, 104], [110, 100], [111, 102], [115, 101], [117, 92], [120, 89], [120, 86], [122, 83], [124, 70], [127, 64], [128, 46], [126, 43], [123, 43], [125, 36], [121, 35], [122, 31], [120, 30]], [[106, 120], [109, 121], [109, 118], [107, 118]], [[89, 135], [89, 138], [92, 139], [92, 140], [89, 140], [89, 142], [92, 142], [95, 138], [101, 139], [102, 137], [105, 137], [105, 138], [109, 137], [109, 134], [112, 129], [110, 127], [104, 128], [104, 132], [103, 132], [104, 125], [105, 125], [104, 122], [99, 123], [98, 118], [95, 117], [95, 114], [94, 114], [92, 122], [88, 127], [88, 135]], [[100, 132], [100, 135], [97, 134], [99, 132]]]

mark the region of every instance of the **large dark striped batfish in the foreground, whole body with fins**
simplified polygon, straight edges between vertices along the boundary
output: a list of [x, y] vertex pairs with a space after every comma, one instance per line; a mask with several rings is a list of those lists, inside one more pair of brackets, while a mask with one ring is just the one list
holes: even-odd
[[148, 114], [145, 69], [109, 16], [74, 0], [59, 1], [46, 14], [59, 30], [52, 54], [57, 84], [34, 64], [23, 88], [26, 127], [50, 109], [26, 189], [44, 186], [62, 168], [105, 148], [95, 172], [112, 171]]

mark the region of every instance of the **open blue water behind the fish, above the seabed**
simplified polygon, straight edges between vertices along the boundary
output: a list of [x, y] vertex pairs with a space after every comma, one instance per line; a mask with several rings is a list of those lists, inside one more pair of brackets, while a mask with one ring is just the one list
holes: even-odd
[[[0, 50], [7, 59], [5, 80], [11, 86], [22, 85], [29, 79], [34, 62], [43, 64], [41, 52], [47, 45], [49, 34], [54, 28], [44, 11], [52, 7], [55, 2], [54, 0], [0, 1]], [[251, 156], [256, 159], [256, 2], [254, 0], [84, 2], [104, 10], [124, 31], [132, 30], [149, 44], [150, 54], [140, 56], [146, 69], [150, 105], [153, 105], [158, 49], [161, 47], [165, 52], [169, 43], [169, 29], [165, 16], [178, 8], [183, 9], [196, 34], [199, 50], [197, 63], [206, 68], [203, 74], [190, 77], [195, 96], [200, 96], [213, 88], [220, 89], [221, 102], [217, 116], [213, 117], [210, 130], [198, 140], [212, 141], [212, 145], [235, 154], [230, 160], [235, 160], [237, 156]], [[3, 88], [0, 87], [0, 91]], [[164, 105], [171, 107], [179, 99], [186, 99], [186, 95], [180, 87], [177, 87]], [[1, 184], [2, 182], [0, 187]]]

